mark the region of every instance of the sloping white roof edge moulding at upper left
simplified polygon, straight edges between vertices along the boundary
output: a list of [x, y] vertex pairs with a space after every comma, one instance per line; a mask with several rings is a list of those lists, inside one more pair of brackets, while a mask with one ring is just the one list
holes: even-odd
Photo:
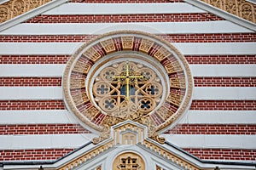
[[39, 6], [38, 8], [34, 8], [24, 14], [20, 14], [19, 16], [15, 17], [11, 20], [7, 20], [7, 21], [1, 23], [0, 31], [4, 31], [4, 30], [8, 29], [9, 27], [15, 26], [25, 20], [31, 19], [32, 17], [37, 16], [38, 14], [42, 14], [45, 11], [49, 10], [50, 8], [55, 8], [56, 6], [59, 6], [62, 3], [67, 3], [67, 2], [68, 2], [68, 0], [53, 0], [49, 3], [45, 3], [41, 6]]

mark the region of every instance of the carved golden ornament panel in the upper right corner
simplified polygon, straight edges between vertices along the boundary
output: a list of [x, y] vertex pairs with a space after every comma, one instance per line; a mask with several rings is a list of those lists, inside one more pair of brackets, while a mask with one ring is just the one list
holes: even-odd
[[201, 0], [230, 14], [256, 23], [256, 4], [246, 0]]

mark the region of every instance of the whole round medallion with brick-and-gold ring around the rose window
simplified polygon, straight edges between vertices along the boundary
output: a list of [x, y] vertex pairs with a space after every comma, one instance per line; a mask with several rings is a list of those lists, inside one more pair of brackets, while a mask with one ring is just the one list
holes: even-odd
[[67, 108], [102, 139], [125, 120], [147, 126], [148, 136], [160, 139], [157, 132], [188, 109], [192, 87], [177, 48], [140, 31], [115, 31], [84, 43], [63, 77]]

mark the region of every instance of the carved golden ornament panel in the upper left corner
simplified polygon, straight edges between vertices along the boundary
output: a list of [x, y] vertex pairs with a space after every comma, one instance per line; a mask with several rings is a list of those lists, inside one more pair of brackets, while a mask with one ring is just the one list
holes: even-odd
[[10, 0], [0, 5], [0, 23], [11, 20], [51, 0]]

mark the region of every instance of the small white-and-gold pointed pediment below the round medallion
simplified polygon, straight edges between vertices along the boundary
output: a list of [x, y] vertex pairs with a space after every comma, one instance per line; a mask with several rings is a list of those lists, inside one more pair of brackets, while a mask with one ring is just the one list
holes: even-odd
[[[177, 148], [169, 142], [159, 144], [147, 135], [147, 127], [127, 120], [111, 128], [111, 137], [99, 144], [88, 143], [74, 150], [69, 155], [53, 163], [43, 164], [41, 168], [69, 170], [69, 169], [129, 169], [138, 170], [169, 170], [169, 169], [214, 169], [218, 166], [233, 168], [236, 166], [228, 162], [201, 161], [195, 156]], [[19, 165], [18, 165], [19, 166]], [[8, 166], [7, 166], [8, 167]], [[12, 165], [15, 168], [15, 165]], [[34, 165], [23, 165], [26, 169], [35, 168]], [[38, 167], [38, 165], [37, 165]], [[239, 167], [247, 165], [239, 164]]]

